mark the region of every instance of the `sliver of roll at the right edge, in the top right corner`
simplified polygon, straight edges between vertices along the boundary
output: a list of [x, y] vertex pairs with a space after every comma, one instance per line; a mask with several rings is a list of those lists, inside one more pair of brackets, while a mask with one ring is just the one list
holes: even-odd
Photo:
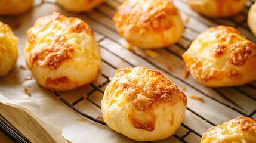
[[252, 33], [256, 36], [256, 2], [251, 5], [248, 11], [247, 23]]

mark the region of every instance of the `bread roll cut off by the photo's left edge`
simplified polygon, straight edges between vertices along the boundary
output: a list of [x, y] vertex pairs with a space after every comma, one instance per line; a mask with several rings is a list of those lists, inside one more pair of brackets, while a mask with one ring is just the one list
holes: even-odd
[[0, 76], [5, 76], [13, 69], [17, 57], [18, 38], [7, 24], [0, 21]]

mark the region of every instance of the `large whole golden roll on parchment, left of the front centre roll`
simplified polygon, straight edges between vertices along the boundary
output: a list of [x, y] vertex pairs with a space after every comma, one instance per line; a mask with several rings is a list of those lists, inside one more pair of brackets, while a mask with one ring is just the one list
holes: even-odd
[[94, 33], [79, 18], [54, 12], [27, 30], [25, 58], [36, 81], [48, 89], [66, 91], [87, 85], [101, 68]]

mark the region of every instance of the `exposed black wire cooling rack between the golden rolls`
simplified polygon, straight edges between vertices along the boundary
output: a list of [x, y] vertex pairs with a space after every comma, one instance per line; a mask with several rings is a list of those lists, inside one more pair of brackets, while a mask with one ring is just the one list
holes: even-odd
[[[256, 42], [255, 37], [251, 34], [246, 24], [246, 15], [248, 13], [248, 9], [254, 1], [248, 1], [245, 10], [235, 17], [222, 19], [215, 18], [211, 20], [202, 17], [201, 15], [195, 13], [195, 11], [192, 11], [186, 4], [186, 0], [174, 0], [173, 2], [180, 10], [180, 14], [186, 23], [184, 34], [180, 41], [178, 41], [175, 45], [169, 46], [165, 49], [156, 50], [156, 52], [166, 52], [168, 55], [170, 55], [170, 57], [180, 61], [182, 60], [181, 55], [186, 51], [187, 48], [189, 48], [190, 43], [196, 38], [196, 36], [199, 35], [199, 33], [205, 31], [209, 27], [215, 27], [220, 24], [236, 27], [248, 39], [254, 43]], [[178, 83], [180, 83], [180, 85], [186, 86], [186, 88], [188, 88], [187, 90], [191, 89], [192, 91], [195, 91], [195, 93], [198, 93], [198, 95], [201, 95], [201, 97], [207, 99], [207, 101], [209, 101], [208, 104], [212, 104], [209, 108], [216, 108], [216, 110], [218, 110], [220, 113], [216, 114], [216, 116], [212, 116], [201, 113], [201, 110], [199, 110], [194, 103], [192, 105], [188, 105], [186, 114], [189, 114], [189, 116], [193, 117], [193, 119], [186, 119], [185, 117], [180, 128], [177, 130], [175, 135], [173, 135], [176, 139], [174, 142], [199, 142], [203, 131], [206, 131], [206, 129], [211, 126], [219, 125], [227, 119], [232, 119], [236, 116], [256, 117], [256, 82], [230, 88], [205, 88], [202, 85], [195, 84], [191, 78], [187, 80], [181, 77], [180, 75], [183, 73], [174, 73], [169, 71], [168, 68], [166, 68], [168, 66], [158, 63], [157, 60], [149, 58], [143, 53], [141, 54], [141, 52], [131, 52], [128, 49], [125, 49], [123, 46], [124, 41], [119, 37], [112, 23], [113, 14], [115, 14], [115, 11], [119, 5], [121, 5], [121, 1], [119, 0], [107, 0], [103, 5], [95, 8], [92, 13], [78, 15], [85, 22], [90, 24], [90, 26], [92, 26], [92, 29], [94, 30], [96, 38], [100, 44], [101, 52], [103, 52], [102, 55], [112, 56], [113, 60], [119, 60], [121, 61], [121, 64], [124, 64], [121, 66], [120, 63], [113, 64], [113, 60], [109, 60], [109, 58], [103, 56], [103, 66], [113, 71], [125, 66], [147, 66], [157, 69], [170, 77], [172, 80], [176, 80]], [[112, 46], [115, 48], [112, 48]], [[124, 54], [121, 54], [122, 52], [124, 52]], [[128, 56], [127, 54], [131, 56]], [[85, 88], [90, 86], [92, 89], [85, 95], [81, 95], [81, 97], [79, 97], [76, 101], [67, 101], [64, 97], [61, 97], [60, 93], [55, 91], [51, 92], [55, 97], [58, 98], [58, 100], [75, 110], [77, 113], [81, 114], [87, 119], [93, 120], [94, 122], [106, 125], [106, 123], [104, 123], [99, 117], [90, 116], [90, 114], [86, 113], [86, 110], [81, 110], [79, 107], [76, 107], [79, 102], [87, 100], [91, 102], [92, 105], [95, 105], [100, 109], [100, 101], [94, 101], [91, 98], [94, 96], [92, 94], [97, 92], [97, 94], [100, 93], [101, 96], [103, 96], [104, 88], [106, 88], [110, 82], [109, 79], [111, 77], [104, 72], [102, 72], [101, 75], [101, 80], [104, 82], [101, 82], [98, 85], [91, 83], [90, 85], [86, 86]], [[193, 100], [190, 101], [197, 102]], [[197, 104], [201, 103], [197, 102]], [[205, 105], [205, 107], [202, 108], [208, 110], [208, 106]], [[224, 119], [222, 119], [221, 116], [225, 116], [223, 117]], [[196, 127], [196, 125], [189, 123], [188, 120], [199, 120], [200, 123], [204, 122], [205, 126], [203, 129], [200, 129], [200, 127]]]

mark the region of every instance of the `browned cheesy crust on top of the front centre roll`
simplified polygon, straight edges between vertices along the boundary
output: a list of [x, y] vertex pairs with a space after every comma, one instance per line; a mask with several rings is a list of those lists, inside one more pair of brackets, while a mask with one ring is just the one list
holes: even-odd
[[[141, 88], [137, 83], [140, 82], [140, 80], [128, 79], [127, 82], [122, 83], [122, 90], [124, 93], [127, 93], [125, 94], [125, 98], [127, 98], [128, 101], [133, 101], [135, 107], [141, 111], [152, 110], [153, 105], [161, 104], [161, 102], [177, 104], [177, 100], [173, 100], [172, 98], [177, 92], [180, 92], [175, 83], [159, 71], [147, 69], [146, 67], [140, 67], [140, 70], [141, 71], [139, 71], [136, 76], [143, 74], [150, 75], [150, 77], [155, 79], [155, 83], [149, 88]], [[131, 73], [131, 71], [132, 69], [128, 68], [117, 70], [116, 76], [122, 77], [125, 74]], [[183, 103], [186, 105], [186, 102]]]

